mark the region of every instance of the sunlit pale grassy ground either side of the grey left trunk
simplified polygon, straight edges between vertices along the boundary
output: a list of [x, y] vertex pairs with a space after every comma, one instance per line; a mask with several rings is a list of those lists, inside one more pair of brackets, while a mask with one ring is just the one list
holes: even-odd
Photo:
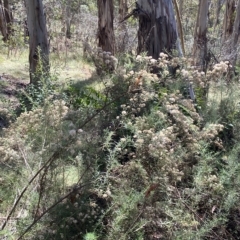
[[[65, 85], [69, 82], [84, 83], [91, 79], [94, 67], [85, 61], [80, 54], [51, 54], [51, 74], [56, 77], [56, 83]], [[9, 56], [0, 52], [0, 109], [16, 110], [19, 106], [17, 94], [29, 84], [28, 49], [12, 53]], [[0, 129], [6, 126], [0, 118]]]

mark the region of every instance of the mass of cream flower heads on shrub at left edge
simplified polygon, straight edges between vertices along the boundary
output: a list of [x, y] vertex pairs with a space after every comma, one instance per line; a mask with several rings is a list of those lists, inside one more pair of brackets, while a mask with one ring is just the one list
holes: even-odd
[[[55, 100], [44, 108], [37, 108], [24, 112], [10, 128], [5, 130], [5, 137], [0, 142], [0, 156], [3, 160], [20, 160], [21, 151], [39, 148], [42, 144], [36, 141], [41, 138], [45, 147], [41, 147], [39, 154], [47, 148], [55, 148], [63, 138], [62, 124], [68, 107], [63, 100]], [[73, 134], [73, 132], [71, 132]]]

